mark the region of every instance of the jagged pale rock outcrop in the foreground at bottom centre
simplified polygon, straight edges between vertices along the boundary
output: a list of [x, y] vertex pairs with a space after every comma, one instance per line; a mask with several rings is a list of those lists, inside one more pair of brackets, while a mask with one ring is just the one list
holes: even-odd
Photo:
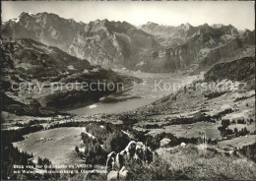
[[118, 153], [112, 151], [107, 155], [107, 180], [127, 180], [129, 179], [129, 172], [125, 167], [127, 161], [150, 163], [154, 157], [154, 151], [143, 143], [131, 141], [123, 151]]

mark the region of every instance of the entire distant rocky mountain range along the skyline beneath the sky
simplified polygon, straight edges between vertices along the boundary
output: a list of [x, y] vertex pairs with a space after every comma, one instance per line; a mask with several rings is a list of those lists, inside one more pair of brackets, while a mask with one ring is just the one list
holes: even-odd
[[77, 23], [49, 13], [22, 13], [2, 25], [3, 37], [32, 38], [91, 64], [144, 72], [193, 73], [254, 54], [255, 31], [188, 23], [178, 27], [96, 20]]

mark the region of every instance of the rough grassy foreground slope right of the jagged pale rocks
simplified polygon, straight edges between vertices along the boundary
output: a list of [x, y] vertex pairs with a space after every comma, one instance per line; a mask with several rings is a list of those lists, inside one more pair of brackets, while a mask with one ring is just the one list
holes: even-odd
[[159, 149], [151, 164], [130, 164], [133, 180], [253, 180], [256, 164], [243, 156], [225, 156], [187, 145]]

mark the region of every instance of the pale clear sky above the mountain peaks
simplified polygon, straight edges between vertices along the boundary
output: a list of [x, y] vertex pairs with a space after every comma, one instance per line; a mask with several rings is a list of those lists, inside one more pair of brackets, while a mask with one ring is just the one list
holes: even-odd
[[135, 26], [154, 22], [179, 26], [232, 25], [254, 30], [253, 1], [2, 1], [2, 21], [18, 18], [22, 12], [48, 12], [77, 22], [107, 19]]

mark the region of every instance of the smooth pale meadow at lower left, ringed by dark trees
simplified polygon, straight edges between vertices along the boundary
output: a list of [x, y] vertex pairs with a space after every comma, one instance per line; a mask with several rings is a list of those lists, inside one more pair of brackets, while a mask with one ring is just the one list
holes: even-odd
[[[75, 147], [83, 144], [81, 132], [85, 128], [56, 128], [29, 134], [24, 141], [14, 143], [20, 151], [32, 152], [37, 157], [46, 157], [53, 164], [71, 164], [81, 162], [76, 156]], [[52, 139], [40, 140], [40, 138]], [[35, 159], [37, 160], [37, 159]]]

